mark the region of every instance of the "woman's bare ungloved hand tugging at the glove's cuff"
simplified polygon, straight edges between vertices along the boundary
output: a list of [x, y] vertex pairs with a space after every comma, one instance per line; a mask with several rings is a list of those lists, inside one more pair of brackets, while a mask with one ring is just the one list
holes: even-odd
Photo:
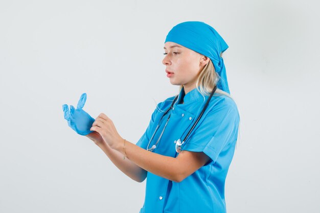
[[120, 146], [120, 141], [123, 140], [111, 119], [104, 113], [99, 114], [90, 130], [98, 132], [105, 143], [112, 149], [116, 149], [117, 146]]

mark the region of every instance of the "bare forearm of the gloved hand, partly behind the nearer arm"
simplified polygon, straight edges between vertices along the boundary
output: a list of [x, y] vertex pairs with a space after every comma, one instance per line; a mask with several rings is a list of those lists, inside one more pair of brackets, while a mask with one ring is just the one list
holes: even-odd
[[108, 156], [113, 164], [118, 167], [124, 174], [131, 179], [142, 182], [146, 179], [147, 171], [134, 164], [129, 159], [123, 159], [123, 155], [116, 150], [111, 149], [102, 139], [99, 133], [92, 132], [86, 135], [89, 139], [93, 140], [95, 144], [102, 149], [102, 151]]

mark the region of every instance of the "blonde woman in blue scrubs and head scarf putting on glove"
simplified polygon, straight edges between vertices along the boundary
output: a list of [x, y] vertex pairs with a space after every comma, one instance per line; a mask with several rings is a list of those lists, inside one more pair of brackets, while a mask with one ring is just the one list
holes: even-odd
[[171, 29], [163, 64], [180, 90], [156, 106], [136, 144], [121, 137], [106, 114], [93, 119], [86, 113], [85, 93], [77, 109], [63, 105], [70, 127], [93, 140], [124, 174], [147, 179], [140, 212], [226, 212], [224, 183], [240, 122], [221, 57], [227, 48], [204, 22]]

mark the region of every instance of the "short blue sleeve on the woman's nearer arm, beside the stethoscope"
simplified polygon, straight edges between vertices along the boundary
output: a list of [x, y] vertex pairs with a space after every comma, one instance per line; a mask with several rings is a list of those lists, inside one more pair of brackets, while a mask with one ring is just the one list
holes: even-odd
[[236, 142], [240, 121], [238, 109], [235, 104], [223, 103], [208, 112], [182, 150], [204, 152], [214, 163], [224, 147]]

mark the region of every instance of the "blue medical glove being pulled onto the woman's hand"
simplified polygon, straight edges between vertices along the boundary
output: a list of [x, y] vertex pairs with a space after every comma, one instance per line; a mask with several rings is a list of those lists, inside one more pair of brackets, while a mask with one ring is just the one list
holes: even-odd
[[68, 125], [80, 135], [87, 135], [94, 132], [90, 131], [90, 128], [95, 119], [82, 109], [86, 99], [87, 94], [83, 93], [78, 102], [77, 109], [70, 105], [70, 113], [68, 105], [62, 105], [64, 119], [67, 120]]

